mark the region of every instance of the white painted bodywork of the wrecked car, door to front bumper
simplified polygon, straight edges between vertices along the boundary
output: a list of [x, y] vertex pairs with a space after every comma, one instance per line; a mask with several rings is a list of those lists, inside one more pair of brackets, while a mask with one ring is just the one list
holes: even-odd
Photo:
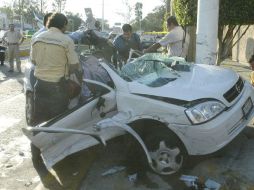
[[[105, 107], [97, 110], [98, 98], [96, 98], [50, 127], [93, 131], [108, 140], [125, 134], [124, 126], [132, 121], [153, 119], [172, 130], [183, 142], [188, 154], [204, 155], [215, 152], [228, 144], [254, 116], [254, 109], [248, 118], [244, 118], [242, 112], [242, 106], [246, 100], [248, 98], [251, 98], [252, 102], [254, 100], [254, 90], [248, 82], [244, 82], [243, 90], [232, 102], [229, 103], [223, 97], [223, 94], [231, 89], [239, 78], [229, 69], [210, 65], [193, 65], [192, 71], [179, 72], [181, 77], [177, 80], [155, 88], [136, 81], [127, 82], [107, 64], [101, 62], [101, 65], [115, 83], [115, 89], [108, 87], [110, 92], [102, 96], [105, 98]], [[93, 82], [92, 80], [87, 81]], [[100, 84], [100, 82], [96, 83]], [[101, 83], [101, 86], [105, 87], [105, 84]], [[227, 109], [210, 121], [193, 125], [185, 114], [186, 107], [142, 95], [184, 101], [211, 98], [222, 102]], [[110, 112], [105, 118], [101, 118], [100, 113], [107, 111]], [[114, 127], [116, 123], [122, 123], [122, 126]], [[135, 136], [134, 133], [132, 135]], [[48, 168], [72, 153], [98, 144], [90, 136], [77, 134], [42, 132], [31, 137], [31, 140], [35, 146], [40, 148]]]

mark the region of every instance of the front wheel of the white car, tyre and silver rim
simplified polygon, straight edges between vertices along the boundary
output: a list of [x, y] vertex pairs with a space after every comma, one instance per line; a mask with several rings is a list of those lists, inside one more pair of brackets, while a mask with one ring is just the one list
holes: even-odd
[[187, 153], [175, 134], [162, 127], [156, 128], [145, 138], [152, 159], [150, 167], [160, 175], [175, 174], [183, 167]]

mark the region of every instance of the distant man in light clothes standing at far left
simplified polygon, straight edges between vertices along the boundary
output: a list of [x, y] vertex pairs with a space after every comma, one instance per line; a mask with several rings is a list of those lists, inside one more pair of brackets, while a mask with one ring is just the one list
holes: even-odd
[[9, 25], [10, 30], [5, 32], [3, 36], [3, 42], [8, 45], [8, 57], [10, 70], [8, 72], [14, 71], [13, 61], [16, 58], [17, 70], [21, 73], [21, 62], [19, 58], [19, 45], [24, 41], [24, 37], [18, 31], [14, 30], [14, 24]]

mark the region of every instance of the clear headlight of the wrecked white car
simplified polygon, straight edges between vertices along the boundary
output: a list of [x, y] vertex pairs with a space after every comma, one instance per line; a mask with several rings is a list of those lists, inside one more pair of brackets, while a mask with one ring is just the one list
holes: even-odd
[[221, 102], [212, 100], [188, 108], [185, 113], [193, 124], [200, 124], [216, 117], [225, 108], [226, 106]]

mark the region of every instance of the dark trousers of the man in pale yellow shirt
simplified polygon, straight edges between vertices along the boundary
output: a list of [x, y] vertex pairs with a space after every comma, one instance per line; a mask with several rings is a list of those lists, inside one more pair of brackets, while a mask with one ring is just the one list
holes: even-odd
[[34, 86], [36, 123], [48, 121], [68, 109], [69, 99], [61, 83], [37, 79]]

